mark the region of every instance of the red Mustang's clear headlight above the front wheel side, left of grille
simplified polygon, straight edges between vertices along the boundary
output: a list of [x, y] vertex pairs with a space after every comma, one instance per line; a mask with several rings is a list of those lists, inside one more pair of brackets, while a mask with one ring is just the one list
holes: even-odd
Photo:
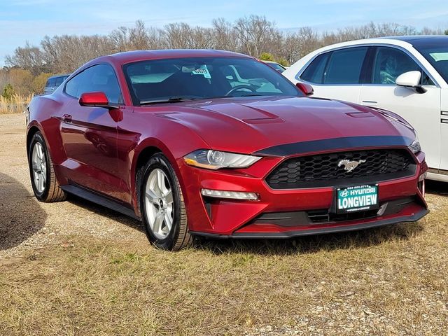
[[260, 159], [259, 156], [212, 151], [209, 149], [194, 151], [183, 158], [187, 165], [207, 169], [246, 168]]

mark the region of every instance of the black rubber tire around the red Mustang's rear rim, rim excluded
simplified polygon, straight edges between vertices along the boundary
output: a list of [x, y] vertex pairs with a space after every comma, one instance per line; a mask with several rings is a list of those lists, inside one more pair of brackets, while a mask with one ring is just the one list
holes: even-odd
[[[34, 179], [33, 167], [32, 167], [32, 155], [33, 149], [36, 144], [41, 144], [43, 148], [43, 155], [45, 155], [45, 167], [46, 167], [46, 178], [45, 187], [43, 190], [39, 191], [36, 186], [36, 181]], [[51, 160], [50, 153], [48, 153], [47, 145], [42, 137], [41, 132], [36, 132], [31, 141], [29, 141], [28, 147], [28, 166], [29, 166], [29, 176], [31, 178], [31, 186], [33, 187], [34, 195], [41, 202], [62, 202], [66, 200], [66, 194], [64, 190], [59, 187], [57, 183], [55, 170], [53, 169], [53, 164]]]

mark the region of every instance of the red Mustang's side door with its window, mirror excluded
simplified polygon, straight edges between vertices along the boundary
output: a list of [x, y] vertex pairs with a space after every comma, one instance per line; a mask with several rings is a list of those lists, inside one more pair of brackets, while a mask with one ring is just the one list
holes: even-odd
[[118, 176], [117, 121], [113, 111], [80, 106], [84, 92], [104, 92], [110, 103], [122, 102], [116, 74], [109, 64], [97, 64], [78, 73], [64, 87], [69, 102], [61, 118], [66, 173], [71, 183], [115, 197]]

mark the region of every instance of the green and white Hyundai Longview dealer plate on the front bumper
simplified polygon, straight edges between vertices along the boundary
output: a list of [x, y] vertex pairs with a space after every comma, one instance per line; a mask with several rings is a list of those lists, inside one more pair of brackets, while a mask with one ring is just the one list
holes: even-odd
[[378, 209], [378, 185], [337, 188], [335, 202], [337, 214]]

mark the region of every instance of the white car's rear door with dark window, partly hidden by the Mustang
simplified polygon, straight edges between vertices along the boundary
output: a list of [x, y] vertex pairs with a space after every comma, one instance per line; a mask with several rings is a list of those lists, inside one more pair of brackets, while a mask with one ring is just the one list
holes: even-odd
[[315, 57], [297, 80], [314, 88], [314, 97], [358, 103], [367, 46], [332, 50]]

